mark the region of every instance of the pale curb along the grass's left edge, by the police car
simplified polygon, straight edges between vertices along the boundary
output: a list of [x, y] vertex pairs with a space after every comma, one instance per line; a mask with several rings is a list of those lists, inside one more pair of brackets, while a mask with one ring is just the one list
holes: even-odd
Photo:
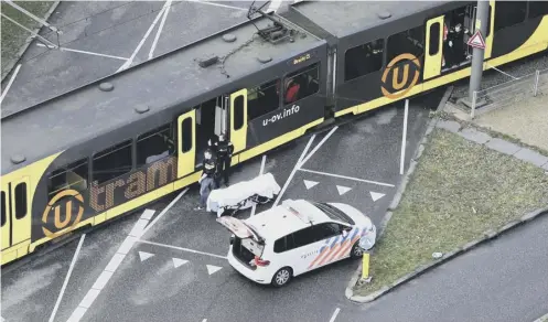
[[[442, 111], [445, 108], [445, 104], [449, 100], [449, 98], [451, 97], [451, 94], [453, 93], [453, 88], [454, 88], [453, 86], [448, 87], [448, 89], [443, 94], [443, 97], [440, 100], [440, 104], [438, 105], [438, 107], [436, 109], [436, 112]], [[399, 184], [398, 190], [396, 191], [396, 194], [395, 194], [390, 205], [388, 206], [388, 210], [383, 218], [383, 222], [380, 223], [377, 239], [383, 237], [385, 229], [386, 229], [386, 226], [388, 225], [388, 222], [391, 218], [394, 210], [396, 210], [398, 207], [398, 205], [401, 201], [401, 197], [404, 195], [404, 191], [406, 190], [406, 186], [409, 183], [409, 178], [415, 172], [415, 169], [417, 168], [418, 160], [422, 155], [422, 151], [425, 151], [425, 144], [428, 142], [428, 137], [433, 131], [437, 122], [438, 122], [438, 117], [434, 116], [432, 119], [430, 119], [428, 127], [427, 127], [427, 130], [425, 131], [425, 135], [419, 142], [419, 146], [416, 148], [416, 150], [412, 154], [413, 157], [411, 158], [411, 162], [409, 164], [409, 168], [407, 169], [407, 172], [404, 175], [404, 179], [402, 179], [401, 183]], [[378, 290], [372, 294], [368, 294], [366, 297], [354, 296], [353, 288], [356, 285], [361, 273], [362, 273], [362, 264], [359, 264], [357, 270], [352, 275], [351, 281], [348, 282], [348, 286], [346, 287], [346, 290], [344, 292], [345, 297], [351, 301], [361, 302], [361, 303], [370, 302], [370, 301], [375, 300], [376, 298], [383, 296], [384, 293], [388, 292], [393, 288], [393, 286], [390, 286], [390, 287], [385, 286], [380, 290]], [[398, 281], [401, 283], [401, 282], [405, 282], [406, 279], [401, 278], [401, 279], [398, 279]], [[396, 282], [398, 282], [398, 281], [396, 281]]]

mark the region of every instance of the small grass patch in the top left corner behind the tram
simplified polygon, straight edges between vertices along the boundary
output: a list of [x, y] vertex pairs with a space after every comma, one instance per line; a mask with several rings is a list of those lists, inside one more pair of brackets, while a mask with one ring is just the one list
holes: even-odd
[[[54, 1], [13, 1], [19, 7], [25, 9], [32, 14], [43, 18], [47, 10], [55, 3]], [[22, 13], [15, 8], [11, 7], [6, 2], [1, 2], [0, 10], [3, 14], [15, 20], [20, 24], [26, 26], [30, 30], [34, 30], [40, 26], [40, 23], [29, 15]], [[10, 62], [18, 60], [19, 50], [24, 45], [26, 39], [31, 35], [30, 32], [25, 31], [21, 26], [14, 24], [8, 19], [1, 19], [1, 44], [2, 44], [2, 73]]]

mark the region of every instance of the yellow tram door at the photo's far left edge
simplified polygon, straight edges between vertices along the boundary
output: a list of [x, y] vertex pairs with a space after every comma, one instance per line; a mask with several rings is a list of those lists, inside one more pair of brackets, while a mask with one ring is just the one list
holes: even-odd
[[31, 238], [29, 176], [6, 182], [1, 191], [2, 250]]

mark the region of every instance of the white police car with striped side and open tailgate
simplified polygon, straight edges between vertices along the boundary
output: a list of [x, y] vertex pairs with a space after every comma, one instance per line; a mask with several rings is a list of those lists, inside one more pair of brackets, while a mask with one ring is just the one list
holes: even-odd
[[258, 283], [275, 287], [375, 245], [376, 227], [353, 206], [288, 200], [248, 219], [217, 222], [233, 233], [228, 262]]

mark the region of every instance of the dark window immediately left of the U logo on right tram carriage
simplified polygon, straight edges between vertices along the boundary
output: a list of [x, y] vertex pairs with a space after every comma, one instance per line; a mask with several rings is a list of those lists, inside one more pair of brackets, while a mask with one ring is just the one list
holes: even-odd
[[344, 80], [380, 71], [384, 49], [385, 40], [380, 39], [347, 50], [344, 54]]

